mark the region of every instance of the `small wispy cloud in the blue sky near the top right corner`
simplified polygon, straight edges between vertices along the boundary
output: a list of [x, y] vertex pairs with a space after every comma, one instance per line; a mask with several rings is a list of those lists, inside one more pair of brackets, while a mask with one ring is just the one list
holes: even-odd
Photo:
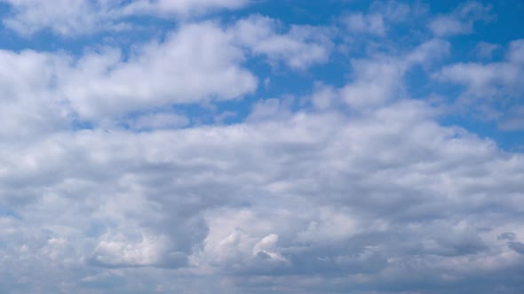
[[428, 25], [434, 35], [465, 35], [473, 32], [475, 21], [493, 19], [491, 8], [478, 2], [461, 4], [454, 12], [435, 17]]

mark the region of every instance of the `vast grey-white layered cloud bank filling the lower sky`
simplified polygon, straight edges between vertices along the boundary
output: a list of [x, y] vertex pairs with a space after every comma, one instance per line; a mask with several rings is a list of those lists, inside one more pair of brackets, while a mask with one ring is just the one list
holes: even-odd
[[215, 276], [224, 293], [458, 293], [507, 272], [485, 287], [522, 290], [524, 158], [427, 107], [7, 145], [1, 283], [147, 292], [179, 287], [172, 271]]

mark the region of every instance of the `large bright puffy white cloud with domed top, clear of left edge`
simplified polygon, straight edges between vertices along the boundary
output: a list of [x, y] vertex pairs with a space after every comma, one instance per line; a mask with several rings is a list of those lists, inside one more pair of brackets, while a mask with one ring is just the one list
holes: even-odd
[[84, 118], [164, 104], [234, 99], [257, 79], [241, 66], [242, 50], [220, 27], [182, 27], [122, 61], [113, 52], [84, 56], [62, 75], [61, 90]]

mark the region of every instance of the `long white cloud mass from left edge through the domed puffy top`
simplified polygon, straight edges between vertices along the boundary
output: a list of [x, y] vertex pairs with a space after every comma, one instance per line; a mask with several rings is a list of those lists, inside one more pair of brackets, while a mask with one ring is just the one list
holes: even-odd
[[[13, 82], [2, 81], [6, 96], [16, 105], [36, 107], [24, 121], [35, 121], [36, 127], [30, 129], [67, 126], [75, 118], [104, 123], [164, 105], [239, 99], [258, 87], [258, 79], [242, 67], [242, 49], [213, 23], [181, 27], [164, 42], [138, 47], [125, 60], [120, 50], [111, 48], [87, 51], [79, 58], [34, 51], [3, 51], [0, 58], [4, 66], [12, 64], [14, 69], [9, 74]], [[9, 106], [4, 111], [13, 113], [7, 117], [18, 112]], [[17, 115], [8, 121], [14, 127], [21, 118]], [[146, 120], [137, 123], [153, 123], [151, 117]]]

